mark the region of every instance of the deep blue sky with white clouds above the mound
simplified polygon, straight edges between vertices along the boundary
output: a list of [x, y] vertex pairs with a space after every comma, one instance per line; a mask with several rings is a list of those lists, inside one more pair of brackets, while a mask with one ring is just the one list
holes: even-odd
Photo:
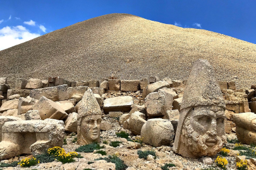
[[198, 28], [256, 43], [255, 0], [0, 0], [0, 50], [111, 13]]

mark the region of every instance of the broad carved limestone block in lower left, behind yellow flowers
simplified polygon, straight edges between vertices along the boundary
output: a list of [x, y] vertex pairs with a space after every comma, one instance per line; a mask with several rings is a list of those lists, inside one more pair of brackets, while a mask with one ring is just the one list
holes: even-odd
[[64, 123], [59, 120], [23, 120], [6, 122], [2, 128], [0, 159], [21, 154], [43, 154], [63, 145]]

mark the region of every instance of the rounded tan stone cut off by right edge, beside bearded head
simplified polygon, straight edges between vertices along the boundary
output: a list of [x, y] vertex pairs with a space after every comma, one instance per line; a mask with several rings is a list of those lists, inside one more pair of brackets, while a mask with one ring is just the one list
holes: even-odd
[[236, 123], [236, 136], [243, 144], [253, 144], [256, 141], [256, 115], [252, 112], [233, 114]]

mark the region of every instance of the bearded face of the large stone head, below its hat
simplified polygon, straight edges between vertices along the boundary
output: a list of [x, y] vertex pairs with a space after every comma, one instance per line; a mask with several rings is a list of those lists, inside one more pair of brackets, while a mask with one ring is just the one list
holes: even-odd
[[196, 157], [216, 155], [226, 142], [224, 118], [224, 108], [219, 106], [190, 108], [181, 132], [188, 152]]

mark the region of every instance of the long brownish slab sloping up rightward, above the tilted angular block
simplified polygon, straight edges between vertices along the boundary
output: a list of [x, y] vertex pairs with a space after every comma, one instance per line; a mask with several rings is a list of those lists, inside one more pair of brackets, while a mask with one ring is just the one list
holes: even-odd
[[52, 101], [66, 100], [69, 98], [67, 89], [68, 86], [66, 84], [50, 88], [34, 89], [30, 91], [30, 98], [40, 99], [44, 96]]

